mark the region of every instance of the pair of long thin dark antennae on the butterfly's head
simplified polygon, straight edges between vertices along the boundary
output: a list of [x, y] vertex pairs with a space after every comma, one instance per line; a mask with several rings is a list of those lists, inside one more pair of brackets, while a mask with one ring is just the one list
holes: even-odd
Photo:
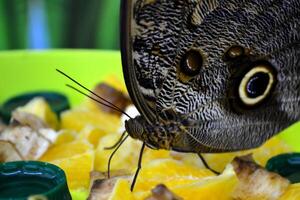
[[77, 88], [75, 88], [75, 87], [73, 87], [73, 86], [71, 86], [71, 85], [69, 85], [69, 84], [67, 84], [68, 87], [70, 87], [70, 88], [76, 90], [77, 92], [79, 92], [79, 93], [81, 93], [81, 94], [83, 94], [83, 95], [89, 97], [90, 99], [92, 99], [92, 100], [94, 100], [94, 101], [96, 101], [96, 102], [98, 102], [98, 103], [100, 103], [100, 104], [102, 104], [102, 105], [105, 105], [105, 106], [107, 106], [107, 107], [109, 107], [109, 108], [112, 108], [112, 109], [114, 109], [114, 110], [116, 110], [116, 111], [118, 111], [118, 112], [120, 112], [120, 113], [126, 115], [126, 116], [129, 117], [130, 119], [132, 119], [132, 117], [130, 117], [130, 116], [129, 116], [127, 113], [125, 113], [122, 109], [120, 109], [119, 107], [117, 107], [117, 106], [114, 105], [113, 103], [107, 101], [107, 100], [104, 99], [103, 97], [99, 96], [98, 94], [96, 94], [96, 93], [93, 92], [92, 90], [88, 89], [87, 87], [85, 87], [84, 85], [82, 85], [81, 83], [79, 83], [78, 81], [76, 81], [75, 79], [73, 79], [72, 77], [70, 77], [69, 75], [67, 75], [66, 73], [60, 71], [59, 69], [56, 69], [56, 71], [58, 71], [58, 72], [61, 73], [63, 76], [67, 77], [68, 79], [70, 79], [71, 81], [73, 81], [74, 83], [76, 83], [78, 86], [80, 86], [81, 88], [83, 88], [83, 89], [85, 89], [86, 91], [90, 92], [91, 94], [95, 95], [96, 97], [98, 97], [99, 99], [101, 99], [102, 101], [104, 101], [104, 102], [106, 102], [106, 103], [103, 103], [103, 102], [101, 102], [101, 101], [99, 101], [99, 100], [96, 100], [95, 98], [91, 97], [90, 95], [87, 95], [86, 93], [80, 91], [79, 89], [77, 89]]

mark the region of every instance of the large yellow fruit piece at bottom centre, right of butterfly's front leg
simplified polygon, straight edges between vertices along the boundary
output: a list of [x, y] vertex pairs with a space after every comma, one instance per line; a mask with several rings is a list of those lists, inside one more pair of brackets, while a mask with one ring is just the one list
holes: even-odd
[[[164, 171], [157, 171], [158, 169], [154, 167], [154, 171], [160, 173], [160, 175], [156, 176], [156, 174], [153, 173], [152, 178], [148, 175], [145, 176], [145, 172], [142, 172], [137, 180], [136, 188], [134, 189], [134, 197], [136, 199], [145, 199], [150, 195], [150, 190], [152, 188], [154, 188], [157, 184], [162, 183], [165, 184], [174, 194], [185, 200], [232, 199], [231, 194], [237, 185], [238, 179], [231, 165], [229, 165], [221, 175], [212, 176], [211, 172], [206, 169], [198, 168], [197, 170], [197, 168], [193, 169], [190, 166], [183, 167], [180, 166], [179, 163], [180, 162], [177, 161], [177, 164], [174, 164], [172, 161], [168, 160], [165, 164], [169, 165], [159, 169]], [[157, 165], [159, 166], [159, 164]], [[149, 167], [152, 166], [150, 165]], [[170, 175], [163, 177], [163, 174], [169, 174], [169, 171], [171, 171]], [[149, 171], [149, 173], [151, 172]], [[178, 173], [179, 175], [176, 175]], [[141, 187], [141, 184], [149, 184], [147, 183], [148, 178], [150, 178], [150, 181], [154, 179], [157, 179], [157, 181], [155, 184], [154, 182], [152, 183], [154, 185], [150, 189], [148, 188], [149, 186]], [[168, 178], [171, 179], [167, 180]]]

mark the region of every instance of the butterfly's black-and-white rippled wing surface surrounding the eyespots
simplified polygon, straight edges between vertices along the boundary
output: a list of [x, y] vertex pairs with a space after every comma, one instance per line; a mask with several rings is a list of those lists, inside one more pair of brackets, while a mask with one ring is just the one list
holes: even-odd
[[[125, 80], [149, 123], [162, 118], [165, 109], [174, 110], [192, 122], [185, 137], [193, 151], [201, 152], [201, 146], [211, 151], [253, 148], [300, 119], [299, 0], [128, 2]], [[242, 113], [230, 105], [235, 69], [223, 60], [233, 45], [277, 72], [269, 101]], [[197, 76], [182, 81], [178, 69], [190, 49], [199, 50], [204, 62]]]

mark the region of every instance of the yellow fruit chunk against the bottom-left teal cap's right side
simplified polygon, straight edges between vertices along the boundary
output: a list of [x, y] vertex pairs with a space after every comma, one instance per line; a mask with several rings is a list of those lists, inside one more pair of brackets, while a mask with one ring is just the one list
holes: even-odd
[[67, 176], [70, 189], [87, 189], [90, 184], [90, 172], [94, 166], [94, 151], [87, 151], [73, 157], [49, 161], [62, 168]]

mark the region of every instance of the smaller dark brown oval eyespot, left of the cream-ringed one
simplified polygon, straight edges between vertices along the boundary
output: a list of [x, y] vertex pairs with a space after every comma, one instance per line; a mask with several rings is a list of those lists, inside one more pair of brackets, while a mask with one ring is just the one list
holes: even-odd
[[203, 65], [203, 58], [199, 51], [189, 50], [183, 56], [180, 63], [180, 71], [186, 76], [195, 76], [199, 74]]

